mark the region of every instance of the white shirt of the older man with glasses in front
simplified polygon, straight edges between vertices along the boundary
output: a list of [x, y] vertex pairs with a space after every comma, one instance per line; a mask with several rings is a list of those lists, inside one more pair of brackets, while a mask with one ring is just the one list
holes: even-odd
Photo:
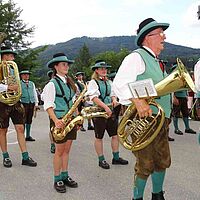
[[[151, 49], [145, 46], [144, 48], [155, 56]], [[144, 71], [145, 63], [139, 53], [132, 52], [124, 58], [113, 81], [113, 89], [119, 98], [120, 104], [128, 105], [131, 103], [129, 99], [133, 98], [133, 95], [131, 94], [128, 84], [135, 82], [137, 76], [144, 73]]]

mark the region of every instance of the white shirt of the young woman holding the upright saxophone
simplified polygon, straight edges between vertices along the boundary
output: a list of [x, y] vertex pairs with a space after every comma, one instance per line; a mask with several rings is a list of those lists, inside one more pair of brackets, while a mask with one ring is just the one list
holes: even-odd
[[[64, 83], [66, 83], [66, 79], [65, 77], [63, 76], [60, 76], [58, 74], [56, 74], [56, 76], [58, 76], [59, 78], [62, 79], [62, 81]], [[55, 85], [53, 82], [48, 82], [44, 89], [43, 89], [43, 92], [41, 94], [41, 99], [42, 101], [44, 101], [44, 110], [47, 110], [48, 108], [53, 108], [55, 109], [56, 108], [56, 105], [55, 105], [55, 98], [56, 98], [56, 89], [55, 89]]]

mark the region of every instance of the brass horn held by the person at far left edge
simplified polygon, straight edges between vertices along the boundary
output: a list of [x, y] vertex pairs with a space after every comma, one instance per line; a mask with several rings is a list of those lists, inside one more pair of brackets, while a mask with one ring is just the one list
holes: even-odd
[[0, 63], [0, 83], [5, 85], [18, 85], [17, 91], [7, 90], [0, 93], [0, 102], [9, 106], [16, 104], [22, 95], [19, 71], [17, 64], [13, 61], [2, 61]]

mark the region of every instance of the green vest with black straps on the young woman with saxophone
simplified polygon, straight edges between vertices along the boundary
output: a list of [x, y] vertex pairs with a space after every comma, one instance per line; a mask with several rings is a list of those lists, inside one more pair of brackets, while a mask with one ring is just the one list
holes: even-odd
[[57, 118], [62, 118], [72, 107], [72, 98], [75, 92], [69, 84], [65, 84], [59, 77], [50, 80], [55, 85], [56, 97], [55, 97], [55, 114]]

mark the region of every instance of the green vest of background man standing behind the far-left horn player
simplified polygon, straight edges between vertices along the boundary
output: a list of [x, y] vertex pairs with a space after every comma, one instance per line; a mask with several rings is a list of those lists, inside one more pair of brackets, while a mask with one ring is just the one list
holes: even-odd
[[28, 85], [21, 80], [21, 87], [22, 87], [22, 96], [21, 102], [22, 103], [35, 103], [34, 97], [34, 83], [32, 81], [28, 81]]

